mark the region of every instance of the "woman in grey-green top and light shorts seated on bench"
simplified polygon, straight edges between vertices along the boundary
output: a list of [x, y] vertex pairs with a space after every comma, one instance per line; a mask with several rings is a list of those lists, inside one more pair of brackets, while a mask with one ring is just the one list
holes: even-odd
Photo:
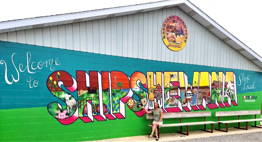
[[[144, 107], [142, 107], [144, 108]], [[156, 127], [158, 126], [159, 128], [163, 125], [163, 120], [162, 120], [162, 117], [163, 117], [163, 110], [159, 107], [159, 104], [158, 103], [154, 103], [154, 110], [151, 110], [151, 111], [147, 111], [145, 110], [146, 113], [152, 113], [153, 114], [153, 117], [154, 117], [154, 121], [153, 121], [153, 128], [152, 128], [152, 133], [150, 136], [148, 136], [148, 138], [152, 138], [153, 137], [153, 134], [154, 134], [154, 131], [155, 131], [155, 134], [156, 134], [156, 141], [158, 141], [158, 135], [157, 135], [157, 129]], [[145, 109], [145, 108], [144, 108]]]

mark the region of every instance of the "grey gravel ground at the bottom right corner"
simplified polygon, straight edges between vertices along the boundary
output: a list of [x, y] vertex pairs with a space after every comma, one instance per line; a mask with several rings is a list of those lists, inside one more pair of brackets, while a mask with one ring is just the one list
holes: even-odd
[[212, 136], [206, 138], [193, 138], [179, 141], [169, 142], [258, 142], [262, 141], [262, 132], [252, 132], [243, 134], [223, 135], [223, 136]]

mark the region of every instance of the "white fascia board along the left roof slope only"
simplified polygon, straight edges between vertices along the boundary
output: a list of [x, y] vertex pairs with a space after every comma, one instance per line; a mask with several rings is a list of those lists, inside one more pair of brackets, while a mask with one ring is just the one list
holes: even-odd
[[155, 7], [164, 7], [174, 4], [184, 4], [184, 2], [185, 0], [158, 1], [153, 3], [76, 12], [70, 14], [60, 14], [60, 15], [53, 15], [53, 16], [43, 16], [43, 17], [36, 17], [36, 18], [12, 20], [12, 21], [0, 22], [0, 30], [15, 28], [15, 27], [23, 27], [28, 25], [45, 24], [45, 23], [66, 21], [72, 19], [88, 18], [93, 16], [116, 14], [116, 13], [129, 12], [129, 11], [138, 11], [141, 9], [151, 9]]

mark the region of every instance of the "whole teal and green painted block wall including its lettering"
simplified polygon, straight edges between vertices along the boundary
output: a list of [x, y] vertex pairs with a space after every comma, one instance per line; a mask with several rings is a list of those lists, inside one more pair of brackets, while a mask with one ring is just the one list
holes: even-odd
[[[217, 121], [216, 111], [261, 110], [261, 72], [2, 41], [0, 51], [1, 141], [146, 135], [151, 121], [145, 119], [141, 107], [152, 110], [154, 102], [164, 113], [211, 111], [207, 120], [213, 121]], [[237, 116], [221, 118], [233, 119]], [[163, 121], [180, 122], [175, 118]], [[178, 129], [162, 128], [161, 133]], [[190, 131], [198, 129], [190, 127]]]

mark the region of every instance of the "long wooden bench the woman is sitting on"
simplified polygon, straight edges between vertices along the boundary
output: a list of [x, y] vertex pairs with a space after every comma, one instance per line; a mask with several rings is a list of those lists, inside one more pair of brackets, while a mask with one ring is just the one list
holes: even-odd
[[[215, 121], [206, 121], [206, 116], [211, 116], [210, 111], [206, 112], [182, 112], [182, 113], [163, 113], [163, 125], [162, 127], [175, 127], [180, 126], [180, 132], [177, 131], [177, 133], [181, 133], [183, 135], [189, 135], [189, 126], [190, 125], [204, 125], [204, 129], [201, 129], [202, 131], [213, 133], [214, 123], [218, 123]], [[190, 123], [182, 123], [182, 118], [189, 118], [189, 117], [204, 117], [204, 121], [202, 122], [190, 122]], [[174, 123], [174, 124], [165, 124], [166, 118], [180, 118], [180, 123]], [[148, 127], [153, 127], [153, 114], [146, 114], [146, 119], [151, 119], [151, 125], [147, 125]], [[211, 124], [211, 131], [206, 130], [206, 124]], [[187, 133], [182, 133], [182, 126], [187, 127]], [[157, 135], [159, 137], [159, 127], [157, 127]], [[150, 135], [150, 134], [149, 134]], [[156, 137], [155, 135], [153, 137]]]

